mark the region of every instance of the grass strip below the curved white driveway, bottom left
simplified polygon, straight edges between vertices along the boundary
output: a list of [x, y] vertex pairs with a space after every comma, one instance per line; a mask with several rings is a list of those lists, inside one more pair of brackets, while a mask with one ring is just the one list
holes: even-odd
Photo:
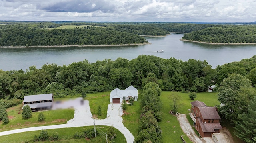
[[[74, 133], [76, 131], [82, 131], [83, 129], [91, 129], [93, 126], [87, 127], [73, 127], [73, 128], [63, 128], [63, 129], [48, 129], [48, 135], [52, 133], [58, 132], [61, 140], [54, 141], [54, 143], [104, 143], [106, 142], [106, 130], [109, 128], [108, 126], [98, 126], [96, 129], [100, 135], [97, 135], [94, 139], [73, 139]], [[126, 139], [124, 135], [117, 129], [116, 132], [116, 143], [126, 143]], [[0, 137], [0, 143], [25, 143], [26, 141], [29, 143], [33, 143], [32, 139], [35, 135], [38, 135], [40, 131], [29, 131], [24, 133], [16, 133], [12, 135], [5, 135]], [[44, 141], [44, 143], [52, 143], [53, 141]], [[110, 142], [110, 141], [108, 141]]]

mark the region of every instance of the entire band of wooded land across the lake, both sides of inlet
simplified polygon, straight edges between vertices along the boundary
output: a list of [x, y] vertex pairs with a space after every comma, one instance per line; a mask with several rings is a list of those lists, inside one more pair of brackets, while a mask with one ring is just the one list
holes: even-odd
[[182, 40], [206, 43], [256, 43], [254, 24], [172, 22], [4, 22], [0, 47], [130, 45], [148, 43], [142, 36], [186, 33]]

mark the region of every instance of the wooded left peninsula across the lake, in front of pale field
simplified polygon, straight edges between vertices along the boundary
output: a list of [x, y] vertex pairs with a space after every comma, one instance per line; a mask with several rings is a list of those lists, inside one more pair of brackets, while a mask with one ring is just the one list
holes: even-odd
[[118, 45], [147, 42], [132, 33], [100, 27], [47, 30], [23, 25], [2, 25], [0, 28], [0, 46]]

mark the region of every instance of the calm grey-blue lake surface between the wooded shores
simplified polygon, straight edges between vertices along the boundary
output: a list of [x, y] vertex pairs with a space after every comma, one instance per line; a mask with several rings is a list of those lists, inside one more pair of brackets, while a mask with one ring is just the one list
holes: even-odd
[[[0, 48], [0, 69], [26, 70], [35, 65], [38, 69], [46, 63], [69, 65], [87, 59], [90, 63], [118, 57], [135, 59], [139, 55], [154, 55], [164, 59], [174, 57], [182, 61], [196, 59], [216, 68], [217, 65], [240, 61], [256, 55], [256, 45], [208, 45], [180, 41], [182, 34], [166, 37], [146, 37], [150, 45], [113, 47], [54, 47], [54, 48]], [[164, 53], [157, 53], [158, 50]]]

